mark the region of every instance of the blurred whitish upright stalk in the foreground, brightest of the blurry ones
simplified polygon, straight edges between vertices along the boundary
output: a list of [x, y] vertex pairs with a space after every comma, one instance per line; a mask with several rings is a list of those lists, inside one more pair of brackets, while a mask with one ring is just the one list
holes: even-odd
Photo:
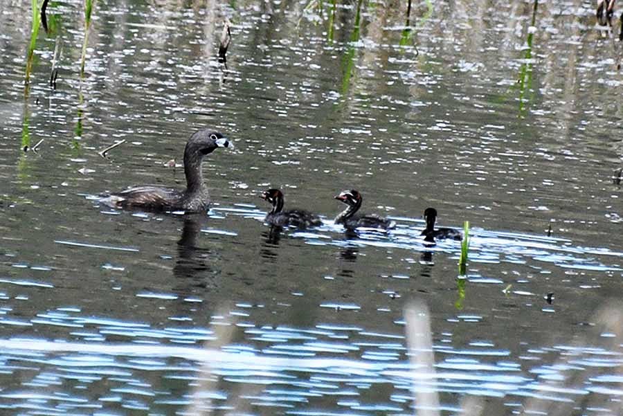
[[415, 415], [439, 416], [435, 357], [428, 307], [421, 300], [405, 309], [407, 345], [413, 368], [413, 399]]

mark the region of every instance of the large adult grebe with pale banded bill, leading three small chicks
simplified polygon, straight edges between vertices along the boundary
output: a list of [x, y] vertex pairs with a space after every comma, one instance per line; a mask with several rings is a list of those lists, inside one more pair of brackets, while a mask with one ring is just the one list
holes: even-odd
[[184, 148], [186, 190], [179, 191], [160, 186], [138, 186], [107, 195], [102, 204], [113, 208], [137, 208], [150, 211], [204, 211], [210, 205], [208, 188], [201, 173], [201, 162], [206, 154], [218, 147], [233, 147], [219, 132], [201, 129], [188, 139]]

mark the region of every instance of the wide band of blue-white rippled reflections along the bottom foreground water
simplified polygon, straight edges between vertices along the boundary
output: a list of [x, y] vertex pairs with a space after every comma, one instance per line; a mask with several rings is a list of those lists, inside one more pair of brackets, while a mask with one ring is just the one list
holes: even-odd
[[[73, 312], [57, 311], [50, 315], [71, 320]], [[602, 314], [612, 316], [613, 309], [604, 309]], [[620, 313], [617, 316], [621, 318]], [[615, 320], [596, 318], [599, 325], [606, 325], [604, 328], [615, 328], [611, 326]], [[83, 320], [73, 322], [86, 324]], [[140, 345], [3, 340], [0, 341], [3, 374], [19, 374], [23, 381], [18, 390], [12, 388], [12, 382], [3, 384], [9, 389], [0, 392], [0, 406], [52, 413], [73, 413], [79, 408], [168, 413], [189, 406], [197, 399], [193, 394], [199, 394], [213, 399], [213, 410], [244, 406], [237, 401], [242, 400], [260, 406], [257, 408], [260, 413], [283, 409], [296, 414], [316, 413], [312, 409], [319, 404], [364, 412], [409, 413], [411, 395], [433, 391], [442, 398], [438, 408], [446, 412], [458, 411], [460, 406], [445, 400], [456, 394], [468, 394], [487, 397], [487, 403], [481, 405], [488, 410], [482, 414], [491, 414], [487, 412], [494, 409], [499, 414], [503, 406], [496, 399], [503, 397], [508, 400], [505, 406], [545, 413], [553, 409], [572, 411], [580, 399], [590, 404], [600, 403], [599, 411], [610, 413], [617, 411], [616, 398], [622, 393], [617, 387], [620, 376], [612, 372], [620, 365], [617, 358], [620, 354], [611, 350], [616, 344], [607, 341], [616, 334], [604, 334], [602, 347], [557, 344], [527, 350], [523, 360], [536, 361], [530, 373], [522, 372], [521, 363], [512, 359], [511, 352], [496, 347], [494, 342], [473, 341], [456, 349], [436, 341], [432, 352], [437, 361], [433, 377], [429, 378], [423, 376], [421, 368], [409, 363], [408, 356], [413, 356], [417, 349], [409, 352], [404, 347], [404, 336], [366, 332], [344, 325], [317, 325], [311, 329], [244, 325], [233, 330], [244, 331], [267, 347], [260, 351], [244, 345], [228, 345], [215, 350], [167, 345], [161, 341]], [[134, 331], [138, 335], [148, 329], [135, 327]], [[111, 330], [100, 332], [108, 334]], [[209, 339], [210, 332], [206, 334]], [[179, 335], [190, 339], [192, 333]], [[361, 336], [369, 340], [357, 341]], [[441, 336], [440, 341], [451, 341], [452, 334]], [[199, 338], [206, 336], [195, 337]], [[354, 359], [356, 356], [361, 358]], [[553, 357], [555, 364], [539, 365], [547, 356]], [[196, 366], [201, 363], [209, 363], [209, 374], [203, 372], [206, 370], [197, 374]], [[195, 393], [179, 390], [181, 383], [192, 385], [200, 382], [201, 377], [213, 377], [224, 390]], [[258, 388], [249, 387], [255, 394], [243, 390], [237, 397], [228, 392], [235, 392], [237, 384]], [[98, 399], [89, 397], [88, 391], [100, 391], [102, 387], [105, 390]], [[375, 397], [381, 392], [388, 396], [379, 402]], [[597, 395], [614, 399], [611, 402], [614, 404], [608, 405], [609, 399], [595, 403]], [[320, 413], [333, 414], [328, 410]]]

